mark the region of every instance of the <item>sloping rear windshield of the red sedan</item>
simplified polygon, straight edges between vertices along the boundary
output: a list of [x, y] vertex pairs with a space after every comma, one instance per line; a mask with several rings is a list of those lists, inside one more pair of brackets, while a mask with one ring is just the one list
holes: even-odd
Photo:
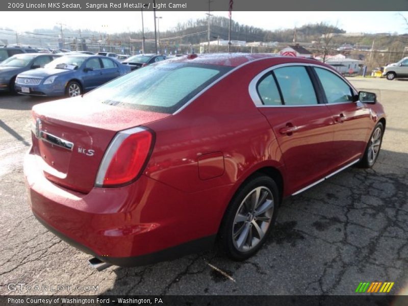
[[91, 91], [85, 98], [119, 107], [171, 114], [231, 69], [186, 63], [149, 65]]

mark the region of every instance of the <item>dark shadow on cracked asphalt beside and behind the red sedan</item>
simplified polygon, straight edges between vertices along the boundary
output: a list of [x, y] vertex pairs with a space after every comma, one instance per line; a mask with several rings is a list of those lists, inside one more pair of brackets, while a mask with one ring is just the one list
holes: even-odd
[[[148, 266], [110, 267], [114, 284], [102, 295], [353, 294], [355, 278], [377, 279], [383, 270], [402, 286], [407, 164], [408, 154], [381, 150], [372, 169], [350, 167], [285, 199], [272, 235], [246, 261], [228, 260], [214, 247]], [[390, 247], [395, 252], [384, 251]], [[280, 285], [271, 291], [270, 284]]]

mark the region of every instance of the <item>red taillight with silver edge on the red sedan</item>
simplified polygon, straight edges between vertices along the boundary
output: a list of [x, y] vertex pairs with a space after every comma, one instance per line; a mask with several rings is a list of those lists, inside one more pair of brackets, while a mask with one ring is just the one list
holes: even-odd
[[143, 127], [121, 131], [112, 140], [96, 175], [96, 187], [118, 187], [141, 174], [151, 154], [154, 135]]

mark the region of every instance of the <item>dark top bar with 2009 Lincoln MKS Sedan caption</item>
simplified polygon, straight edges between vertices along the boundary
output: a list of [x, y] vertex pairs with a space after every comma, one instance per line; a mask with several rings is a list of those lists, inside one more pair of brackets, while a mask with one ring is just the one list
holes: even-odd
[[[152, 11], [154, 3], [157, 11], [208, 11], [205, 0], [2, 0], [0, 11]], [[226, 12], [229, 3], [212, 0], [211, 11]], [[233, 11], [408, 11], [408, 1], [233, 0]]]

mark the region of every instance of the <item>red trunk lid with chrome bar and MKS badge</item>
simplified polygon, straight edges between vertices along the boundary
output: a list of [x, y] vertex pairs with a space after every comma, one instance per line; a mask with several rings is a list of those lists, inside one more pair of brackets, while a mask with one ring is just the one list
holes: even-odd
[[167, 116], [89, 103], [82, 97], [39, 104], [33, 107], [33, 152], [48, 180], [87, 193], [118, 131]]

